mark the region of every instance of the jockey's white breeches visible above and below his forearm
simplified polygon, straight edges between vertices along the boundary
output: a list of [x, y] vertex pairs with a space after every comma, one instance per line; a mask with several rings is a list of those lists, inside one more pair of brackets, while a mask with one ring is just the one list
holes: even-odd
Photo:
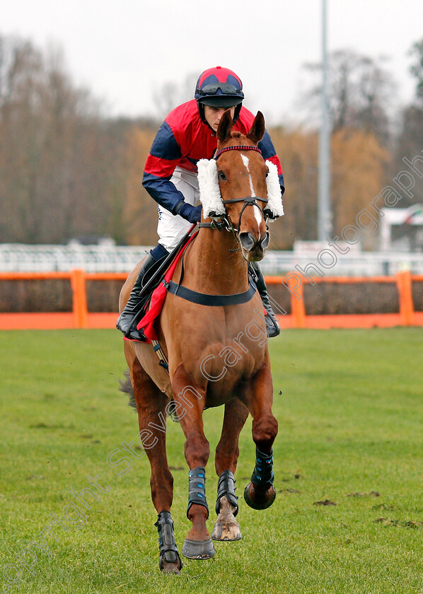
[[[196, 206], [199, 200], [198, 179], [197, 173], [187, 171], [180, 167], [176, 167], [170, 181], [175, 185], [177, 190], [182, 192], [185, 202]], [[172, 250], [175, 245], [185, 233], [187, 233], [192, 226], [192, 223], [182, 219], [178, 214], [172, 214], [162, 206], [158, 206], [158, 226], [157, 233], [160, 239], [158, 243], [163, 245], [168, 252]]]

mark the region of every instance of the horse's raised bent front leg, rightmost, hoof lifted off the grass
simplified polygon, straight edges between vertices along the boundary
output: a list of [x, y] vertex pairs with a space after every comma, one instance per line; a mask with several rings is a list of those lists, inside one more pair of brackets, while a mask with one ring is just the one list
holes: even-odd
[[245, 487], [245, 502], [253, 509], [266, 509], [276, 497], [273, 486], [273, 450], [277, 420], [272, 414], [273, 385], [270, 367], [262, 365], [255, 378], [245, 386], [243, 401], [253, 416], [255, 467]]

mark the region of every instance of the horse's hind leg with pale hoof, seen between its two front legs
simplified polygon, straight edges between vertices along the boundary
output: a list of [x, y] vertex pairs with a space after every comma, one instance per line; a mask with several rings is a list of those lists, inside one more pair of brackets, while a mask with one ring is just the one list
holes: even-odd
[[238, 462], [238, 440], [248, 417], [248, 408], [238, 398], [225, 404], [224, 424], [216, 447], [215, 466], [219, 477], [217, 485], [216, 513], [213, 540], [240, 540], [241, 530], [235, 519], [238, 513], [238, 497], [235, 494], [235, 478]]

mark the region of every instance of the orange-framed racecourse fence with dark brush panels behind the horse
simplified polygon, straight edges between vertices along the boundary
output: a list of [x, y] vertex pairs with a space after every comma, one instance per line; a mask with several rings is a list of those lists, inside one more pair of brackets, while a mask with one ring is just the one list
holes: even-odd
[[[112, 328], [127, 272], [0, 272], [0, 328]], [[283, 328], [423, 325], [423, 274], [266, 276]]]

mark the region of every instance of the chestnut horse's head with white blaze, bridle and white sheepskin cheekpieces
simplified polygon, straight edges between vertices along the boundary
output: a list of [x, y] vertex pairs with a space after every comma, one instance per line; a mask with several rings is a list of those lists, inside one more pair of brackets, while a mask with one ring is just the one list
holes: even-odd
[[282, 194], [277, 166], [265, 162], [257, 147], [265, 134], [262, 113], [246, 135], [232, 126], [228, 110], [219, 123], [214, 159], [198, 163], [200, 199], [204, 216], [226, 220], [245, 260], [255, 262], [269, 245], [267, 220], [283, 214]]

